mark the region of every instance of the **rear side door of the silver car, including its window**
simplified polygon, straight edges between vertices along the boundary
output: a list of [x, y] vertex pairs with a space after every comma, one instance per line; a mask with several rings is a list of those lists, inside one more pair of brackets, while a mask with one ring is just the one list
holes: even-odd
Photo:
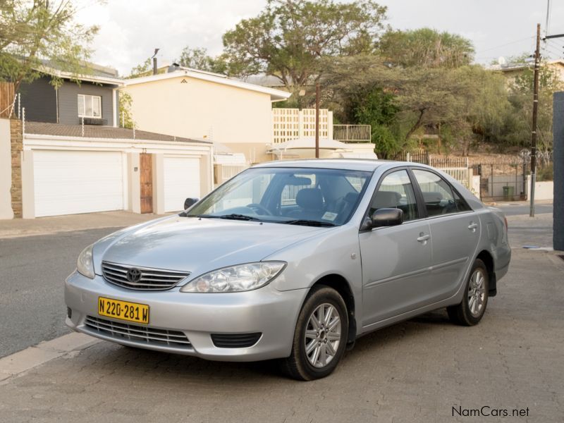
[[424, 202], [432, 241], [432, 284], [435, 300], [453, 295], [474, 257], [480, 220], [458, 192], [434, 171], [412, 168]]

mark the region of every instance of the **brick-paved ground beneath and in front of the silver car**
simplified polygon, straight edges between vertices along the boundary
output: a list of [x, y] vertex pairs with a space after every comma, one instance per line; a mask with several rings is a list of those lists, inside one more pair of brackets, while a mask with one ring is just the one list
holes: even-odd
[[[515, 249], [478, 326], [426, 314], [361, 338], [335, 374], [307, 383], [271, 362], [95, 343], [0, 382], [0, 421], [562, 422], [563, 275], [555, 252]], [[453, 417], [484, 406], [528, 417]]]

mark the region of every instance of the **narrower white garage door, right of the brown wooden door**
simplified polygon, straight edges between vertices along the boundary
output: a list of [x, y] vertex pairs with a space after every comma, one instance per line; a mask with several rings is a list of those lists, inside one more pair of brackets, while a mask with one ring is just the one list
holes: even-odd
[[188, 197], [200, 198], [200, 159], [164, 157], [164, 211], [182, 210]]

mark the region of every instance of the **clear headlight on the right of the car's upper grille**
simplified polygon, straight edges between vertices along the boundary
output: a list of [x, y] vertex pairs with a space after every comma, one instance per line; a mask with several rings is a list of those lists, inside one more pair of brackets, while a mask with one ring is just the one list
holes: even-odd
[[183, 293], [236, 293], [265, 286], [286, 266], [285, 262], [239, 264], [210, 271], [180, 288]]

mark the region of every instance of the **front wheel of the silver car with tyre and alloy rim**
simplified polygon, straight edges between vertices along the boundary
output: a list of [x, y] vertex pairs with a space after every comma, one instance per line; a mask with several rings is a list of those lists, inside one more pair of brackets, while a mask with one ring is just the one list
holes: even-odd
[[[327, 312], [331, 312], [332, 316], [329, 331], [325, 331], [326, 321], [321, 321]], [[321, 324], [324, 325], [322, 328]], [[348, 312], [343, 298], [329, 286], [314, 286], [298, 316], [292, 353], [282, 360], [282, 369], [288, 376], [300, 381], [329, 376], [345, 353], [347, 339]], [[306, 348], [309, 348], [308, 352]]]

